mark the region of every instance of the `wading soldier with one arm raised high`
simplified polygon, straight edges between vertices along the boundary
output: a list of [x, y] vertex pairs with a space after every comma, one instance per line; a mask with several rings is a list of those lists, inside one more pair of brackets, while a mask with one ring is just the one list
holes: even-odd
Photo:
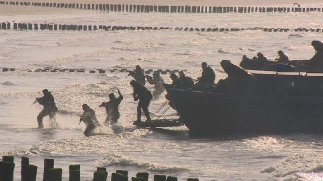
[[109, 94], [110, 101], [108, 102], [102, 102], [99, 107], [105, 107], [105, 110], [107, 111], [107, 118], [105, 119], [105, 124], [107, 125], [110, 121], [110, 123], [117, 123], [118, 119], [120, 118], [119, 113], [119, 104], [121, 103], [121, 100], [123, 99], [122, 94], [120, 93], [120, 90], [118, 89], [119, 97], [116, 98], [113, 93]]

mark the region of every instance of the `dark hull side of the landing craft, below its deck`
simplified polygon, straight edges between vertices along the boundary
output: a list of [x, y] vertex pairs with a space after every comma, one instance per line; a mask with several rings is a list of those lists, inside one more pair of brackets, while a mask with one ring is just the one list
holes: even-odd
[[322, 132], [323, 98], [167, 89], [191, 133]]

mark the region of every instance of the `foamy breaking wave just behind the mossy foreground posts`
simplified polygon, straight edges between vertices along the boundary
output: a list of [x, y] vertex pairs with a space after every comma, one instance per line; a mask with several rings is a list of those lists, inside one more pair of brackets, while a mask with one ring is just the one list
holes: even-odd
[[146, 170], [153, 171], [153, 172], [160, 172], [160, 173], [165, 173], [165, 172], [174, 173], [174, 172], [192, 170], [187, 166], [181, 166], [181, 165], [167, 166], [167, 165], [144, 162], [131, 157], [126, 157], [124, 155], [121, 155], [115, 152], [112, 152], [109, 155], [105, 155], [100, 160], [97, 160], [92, 166], [94, 167], [132, 166], [132, 167], [145, 168]]

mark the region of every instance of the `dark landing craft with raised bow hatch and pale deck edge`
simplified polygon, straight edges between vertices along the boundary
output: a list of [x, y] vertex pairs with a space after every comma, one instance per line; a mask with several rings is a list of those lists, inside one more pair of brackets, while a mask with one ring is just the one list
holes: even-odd
[[323, 73], [246, 71], [224, 60], [218, 84], [164, 84], [191, 134], [323, 132]]

